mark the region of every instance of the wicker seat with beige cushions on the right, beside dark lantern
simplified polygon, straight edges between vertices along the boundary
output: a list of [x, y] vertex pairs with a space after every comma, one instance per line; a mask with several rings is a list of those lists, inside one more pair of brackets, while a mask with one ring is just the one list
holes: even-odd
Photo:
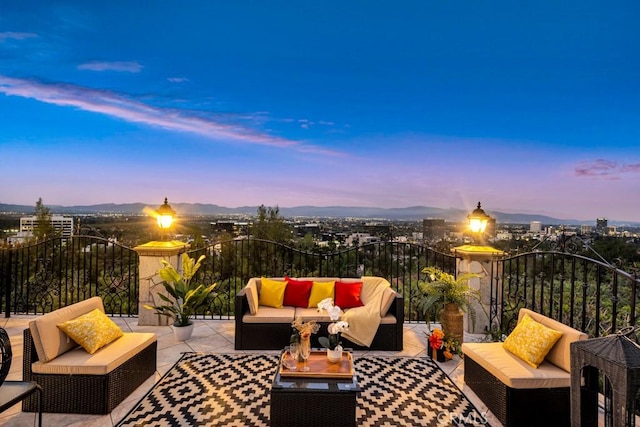
[[570, 346], [588, 336], [526, 308], [520, 309], [518, 324], [526, 315], [562, 333], [542, 363], [534, 368], [502, 342], [464, 343], [464, 382], [505, 427], [569, 425]]

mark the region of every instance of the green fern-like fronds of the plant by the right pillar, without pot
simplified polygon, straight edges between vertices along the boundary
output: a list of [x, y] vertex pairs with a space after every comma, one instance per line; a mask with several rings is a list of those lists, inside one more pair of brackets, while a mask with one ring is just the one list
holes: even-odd
[[453, 303], [464, 312], [468, 312], [472, 323], [475, 324], [476, 312], [474, 302], [480, 303], [480, 292], [467, 284], [469, 279], [480, 277], [475, 273], [464, 273], [458, 277], [445, 273], [436, 267], [425, 267], [422, 270], [427, 280], [418, 282], [418, 308], [429, 321], [429, 313], [434, 307], [442, 308], [445, 304]]

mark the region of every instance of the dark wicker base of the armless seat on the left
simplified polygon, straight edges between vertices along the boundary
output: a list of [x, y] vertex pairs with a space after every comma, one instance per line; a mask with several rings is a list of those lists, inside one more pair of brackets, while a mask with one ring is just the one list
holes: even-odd
[[[108, 414], [156, 370], [158, 343], [153, 341], [143, 350], [106, 375], [37, 374], [31, 364], [38, 361], [31, 331], [24, 331], [23, 379], [42, 387], [44, 412], [76, 414]], [[25, 399], [22, 410], [39, 409], [35, 396]]]

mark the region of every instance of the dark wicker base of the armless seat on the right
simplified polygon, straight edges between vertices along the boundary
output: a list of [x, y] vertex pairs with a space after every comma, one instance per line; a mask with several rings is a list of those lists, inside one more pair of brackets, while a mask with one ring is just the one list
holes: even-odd
[[503, 426], [544, 426], [571, 423], [570, 387], [515, 389], [464, 357], [464, 382]]

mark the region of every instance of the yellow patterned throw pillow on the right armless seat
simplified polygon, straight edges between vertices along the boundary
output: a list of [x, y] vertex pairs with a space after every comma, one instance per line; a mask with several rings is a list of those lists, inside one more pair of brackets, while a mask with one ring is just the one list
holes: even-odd
[[561, 336], [562, 332], [547, 328], [525, 314], [502, 346], [537, 369]]

